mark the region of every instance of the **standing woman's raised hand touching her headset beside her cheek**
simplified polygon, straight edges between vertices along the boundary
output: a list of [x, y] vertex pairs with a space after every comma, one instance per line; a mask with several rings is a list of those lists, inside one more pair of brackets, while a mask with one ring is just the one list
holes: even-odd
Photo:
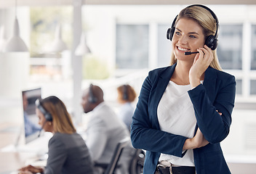
[[189, 70], [189, 82], [192, 88], [199, 86], [201, 76], [213, 60], [212, 49], [208, 46], [204, 45], [204, 48], [199, 48], [197, 51], [199, 53], [196, 54], [191, 70]]

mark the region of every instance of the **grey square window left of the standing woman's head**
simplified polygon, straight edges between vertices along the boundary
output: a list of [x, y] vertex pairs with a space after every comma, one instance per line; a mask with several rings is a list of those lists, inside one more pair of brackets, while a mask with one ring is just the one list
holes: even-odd
[[148, 67], [148, 25], [116, 25], [116, 66]]

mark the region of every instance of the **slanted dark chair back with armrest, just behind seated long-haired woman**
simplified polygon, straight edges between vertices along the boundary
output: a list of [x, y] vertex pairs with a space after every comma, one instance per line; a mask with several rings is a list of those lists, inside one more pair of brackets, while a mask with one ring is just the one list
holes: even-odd
[[124, 147], [128, 145], [128, 143], [129, 138], [124, 138], [123, 140], [119, 141], [119, 144], [116, 145], [116, 149], [113, 152], [111, 162], [109, 164], [96, 163], [95, 167], [102, 167], [103, 170], [105, 170], [104, 174], [113, 174], [113, 172], [116, 170], [116, 167], [119, 167], [117, 163], [121, 157], [121, 152], [123, 151]]

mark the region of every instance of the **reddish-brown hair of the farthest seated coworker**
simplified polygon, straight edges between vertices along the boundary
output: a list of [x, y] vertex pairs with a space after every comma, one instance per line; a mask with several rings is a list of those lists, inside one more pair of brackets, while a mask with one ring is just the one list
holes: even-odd
[[[117, 88], [117, 92], [119, 94], [119, 99], [121, 99], [122, 101], [135, 101], [136, 98], [136, 92], [134, 90], [134, 88], [132, 88], [132, 86], [129, 85], [122, 85], [119, 86]], [[126, 99], [124, 99], [124, 95], [126, 95], [127, 97], [125, 97]]]

